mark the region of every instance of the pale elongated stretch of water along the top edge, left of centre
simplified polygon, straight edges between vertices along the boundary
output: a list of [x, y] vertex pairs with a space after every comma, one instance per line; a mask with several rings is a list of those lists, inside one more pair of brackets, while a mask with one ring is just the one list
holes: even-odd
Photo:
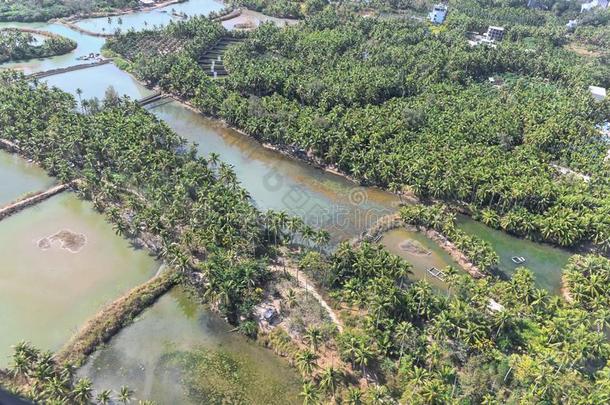
[[78, 21], [76, 25], [87, 31], [107, 34], [114, 33], [117, 29], [139, 31], [146, 27], [167, 25], [170, 21], [180, 20], [181, 17], [174, 15], [174, 12], [193, 17], [208, 15], [212, 11], [220, 11], [223, 7], [221, 2], [215, 0], [189, 0], [163, 8], [143, 10], [116, 17], [88, 18]]

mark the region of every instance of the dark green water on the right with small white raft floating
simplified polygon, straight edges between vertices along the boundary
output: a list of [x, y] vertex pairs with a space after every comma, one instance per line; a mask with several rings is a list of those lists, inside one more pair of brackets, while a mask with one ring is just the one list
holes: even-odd
[[[517, 267], [527, 267], [534, 273], [539, 287], [559, 294], [562, 269], [572, 255], [569, 251], [511, 236], [463, 215], [458, 217], [458, 226], [494, 248], [500, 256], [498, 267], [502, 273], [510, 276]], [[523, 256], [526, 261], [517, 265], [511, 260], [513, 256]]]

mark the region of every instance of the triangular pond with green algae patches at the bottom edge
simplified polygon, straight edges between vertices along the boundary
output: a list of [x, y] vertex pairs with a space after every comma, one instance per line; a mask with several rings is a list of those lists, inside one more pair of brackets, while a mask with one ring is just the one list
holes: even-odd
[[127, 384], [138, 399], [158, 404], [219, 403], [218, 397], [300, 403], [299, 377], [283, 359], [231, 332], [179, 287], [93, 354], [79, 375], [96, 389]]

